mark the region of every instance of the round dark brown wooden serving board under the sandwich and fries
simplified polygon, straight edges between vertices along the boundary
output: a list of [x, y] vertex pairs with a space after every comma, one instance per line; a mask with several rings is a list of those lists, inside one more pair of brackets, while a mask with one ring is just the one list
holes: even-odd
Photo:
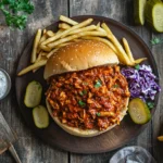
[[[134, 53], [134, 58], [148, 58], [146, 64], [150, 64], [152, 66], [153, 73], [158, 76], [156, 64], [152, 57], [152, 53], [143, 42], [143, 40], [136, 33], [130, 30], [125, 25], [106, 17], [88, 15], [76, 16], [73, 18], [77, 22], [82, 22], [88, 17], [92, 17], [95, 20], [93, 24], [97, 24], [98, 22], [105, 22], [118, 39], [122, 39], [123, 37], [127, 38]], [[59, 22], [53, 23], [48, 27], [48, 29], [57, 30], [58, 24]], [[33, 39], [29, 41], [20, 59], [17, 73], [22, 68], [29, 65], [32, 47]], [[25, 122], [34, 130], [34, 133], [53, 147], [59, 147], [63, 150], [76, 153], [106, 152], [125, 145], [138, 134], [140, 134], [140, 131], [147, 126], [134, 124], [130, 117], [126, 115], [120, 126], [116, 126], [112, 130], [92, 138], [80, 138], [72, 136], [60, 128], [52, 120], [50, 121], [50, 125], [48, 128], [38, 129], [37, 127], [35, 127], [33, 121], [32, 109], [28, 109], [24, 105], [25, 89], [27, 84], [32, 80], [38, 80], [39, 83], [41, 83], [43, 92], [46, 92], [47, 90], [47, 83], [43, 79], [43, 68], [40, 68], [36, 73], [30, 72], [24, 76], [16, 77], [16, 97], [20, 104], [20, 111], [22, 112]], [[158, 97], [159, 96], [156, 96], [155, 98], [155, 105], [158, 103]], [[41, 104], [45, 105], [45, 95], [42, 97]], [[152, 110], [152, 114], [154, 113], [154, 111], [155, 109]]]

